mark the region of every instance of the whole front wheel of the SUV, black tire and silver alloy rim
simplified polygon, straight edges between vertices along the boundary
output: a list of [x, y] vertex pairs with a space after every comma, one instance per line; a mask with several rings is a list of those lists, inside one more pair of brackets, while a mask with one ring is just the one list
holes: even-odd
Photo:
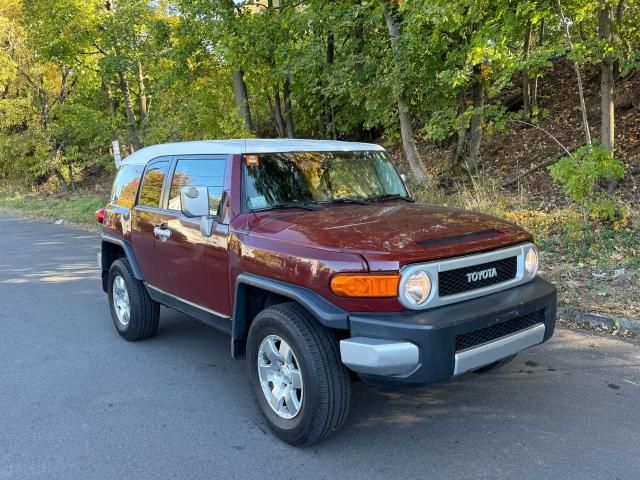
[[[289, 360], [283, 352], [288, 351], [283, 342], [292, 352]], [[276, 347], [277, 353], [270, 345]], [[273, 355], [280, 355], [290, 369], [272, 362]], [[259, 370], [259, 363], [265, 370]], [[296, 368], [300, 389], [294, 388]], [[262, 373], [263, 379], [275, 379], [275, 383], [261, 382], [260, 372], [265, 371], [268, 373], [266, 376]], [[274, 371], [280, 373], [273, 376]], [[297, 303], [273, 305], [256, 316], [247, 338], [247, 372], [267, 425], [284, 442], [312, 445], [344, 425], [351, 404], [351, 381], [349, 371], [340, 360], [338, 340]], [[282, 372], [284, 376], [277, 376]], [[284, 391], [289, 388], [292, 399], [284, 400], [282, 406], [277, 407], [280, 413], [267, 400], [268, 393], [276, 392], [278, 378], [284, 379], [280, 385]], [[276, 396], [269, 398], [273, 397]]]

